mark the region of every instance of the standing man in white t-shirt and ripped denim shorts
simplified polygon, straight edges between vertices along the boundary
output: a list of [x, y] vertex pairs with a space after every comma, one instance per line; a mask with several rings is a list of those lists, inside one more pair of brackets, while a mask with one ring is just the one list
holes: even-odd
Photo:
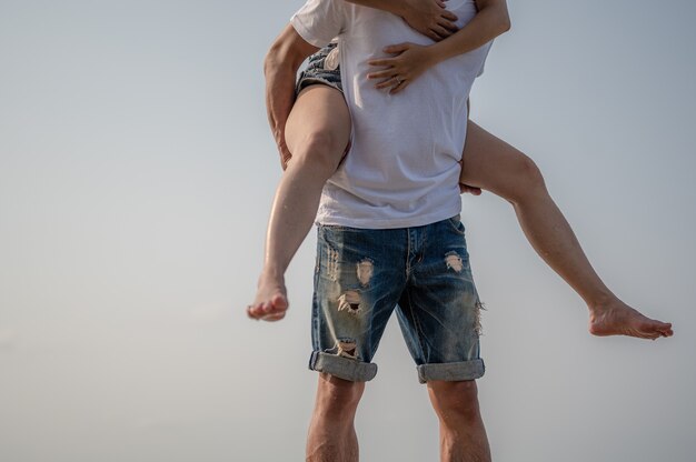
[[[474, 3], [453, 12], [461, 27]], [[367, 61], [400, 41], [428, 43], [396, 16], [337, 0], [309, 0], [284, 32], [285, 73], [338, 37], [352, 145], [325, 188], [310, 369], [320, 372], [307, 442], [311, 461], [356, 461], [354, 416], [370, 361], [397, 310], [421, 382], [440, 420], [443, 460], [489, 461], [475, 380], [480, 303], [459, 222], [466, 102], [488, 46], [453, 58], [390, 96]], [[287, 92], [280, 81], [269, 92]], [[272, 117], [272, 114], [271, 114]]]

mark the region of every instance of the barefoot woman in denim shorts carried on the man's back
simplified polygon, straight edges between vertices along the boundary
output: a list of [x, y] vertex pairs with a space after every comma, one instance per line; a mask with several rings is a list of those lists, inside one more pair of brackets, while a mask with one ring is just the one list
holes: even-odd
[[[429, 67], [475, 50], [509, 29], [504, 0], [477, 0], [477, 14], [461, 30], [439, 0], [354, 0], [352, 3], [401, 16], [414, 29], [435, 42], [401, 43], [385, 49], [390, 58], [370, 61], [368, 76], [376, 88], [398, 93]], [[292, 28], [284, 34], [297, 34]], [[284, 34], [267, 57], [267, 78], [275, 59], [282, 59]], [[450, 36], [450, 37], [448, 37]], [[444, 40], [443, 40], [444, 39]], [[310, 58], [297, 84], [297, 99], [268, 101], [269, 119], [286, 169], [274, 202], [255, 302], [249, 317], [276, 321], [288, 308], [284, 274], [309, 231], [324, 183], [338, 168], [350, 137], [350, 114], [340, 89], [336, 44]], [[288, 113], [287, 120], [277, 114]], [[289, 160], [292, 162], [289, 162]], [[537, 253], [571, 285], [589, 309], [589, 331], [596, 335], [624, 334], [644, 339], [672, 335], [672, 325], [650, 320], [622, 302], [599, 279], [573, 230], [554, 203], [535, 163], [521, 152], [468, 122], [463, 153], [461, 190], [488, 190], [515, 208], [527, 239]]]

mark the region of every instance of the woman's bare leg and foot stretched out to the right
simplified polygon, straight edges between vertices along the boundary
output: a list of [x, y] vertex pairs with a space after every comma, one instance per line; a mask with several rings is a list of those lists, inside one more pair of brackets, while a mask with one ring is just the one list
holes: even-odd
[[460, 182], [488, 190], [513, 204], [531, 247], [587, 303], [590, 333], [640, 339], [673, 334], [670, 323], [640, 314], [604, 284], [534, 161], [471, 121]]

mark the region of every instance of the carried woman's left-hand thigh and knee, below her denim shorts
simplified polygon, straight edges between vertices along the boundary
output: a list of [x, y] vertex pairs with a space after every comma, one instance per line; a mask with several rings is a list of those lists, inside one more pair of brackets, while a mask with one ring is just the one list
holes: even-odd
[[300, 91], [286, 123], [285, 138], [294, 155], [318, 145], [327, 155], [340, 159], [350, 139], [350, 113], [344, 94], [324, 84]]

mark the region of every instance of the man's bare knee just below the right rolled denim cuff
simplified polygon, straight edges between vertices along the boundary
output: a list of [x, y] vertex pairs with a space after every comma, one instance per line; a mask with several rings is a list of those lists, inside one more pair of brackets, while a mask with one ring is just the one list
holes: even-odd
[[435, 410], [440, 418], [479, 419], [478, 389], [475, 381], [428, 382], [428, 388]]

